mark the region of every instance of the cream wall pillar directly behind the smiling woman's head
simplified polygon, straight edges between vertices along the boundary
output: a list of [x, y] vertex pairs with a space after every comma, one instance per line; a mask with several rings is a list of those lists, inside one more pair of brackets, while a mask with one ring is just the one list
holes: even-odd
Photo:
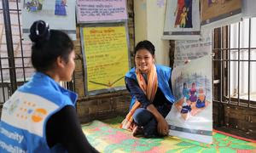
[[154, 43], [156, 62], [170, 65], [169, 41], [162, 40], [165, 23], [166, 0], [135, 0], [135, 42], [145, 39]]

